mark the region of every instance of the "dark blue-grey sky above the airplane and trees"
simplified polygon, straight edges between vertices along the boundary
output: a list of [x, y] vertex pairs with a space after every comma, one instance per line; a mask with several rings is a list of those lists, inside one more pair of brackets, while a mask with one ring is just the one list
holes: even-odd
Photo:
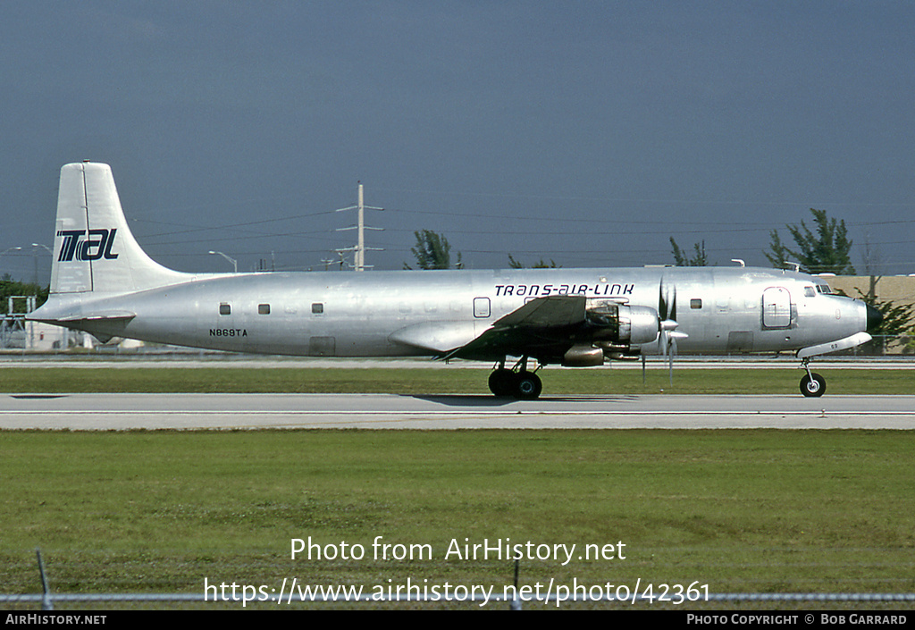
[[[318, 270], [770, 266], [811, 208], [915, 273], [915, 3], [42, 2], [0, 21], [0, 274], [47, 284], [59, 168], [112, 166], [149, 255]], [[35, 244], [35, 245], [33, 245]], [[16, 249], [16, 248], [19, 249]], [[351, 263], [351, 255], [349, 258]], [[330, 268], [339, 268], [334, 263]], [[367, 272], [371, 273], [371, 271]]]

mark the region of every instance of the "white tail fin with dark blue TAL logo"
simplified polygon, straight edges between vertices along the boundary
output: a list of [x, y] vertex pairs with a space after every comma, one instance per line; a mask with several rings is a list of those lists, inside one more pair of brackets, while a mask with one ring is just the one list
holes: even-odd
[[127, 293], [188, 277], [150, 258], [130, 233], [107, 164], [60, 169], [51, 293]]

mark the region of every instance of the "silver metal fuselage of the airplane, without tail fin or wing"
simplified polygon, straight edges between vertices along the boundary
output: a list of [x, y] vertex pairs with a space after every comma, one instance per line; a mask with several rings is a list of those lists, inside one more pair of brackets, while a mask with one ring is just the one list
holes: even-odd
[[[563, 295], [657, 310], [686, 335], [678, 353], [794, 351], [867, 329], [865, 305], [830, 294], [822, 278], [752, 267], [188, 276], [127, 294], [61, 294], [54, 310], [134, 315], [80, 321], [102, 338], [248, 353], [404, 356], [444, 353], [528, 300]], [[431, 341], [400, 333], [424, 324], [444, 332]], [[632, 350], [661, 352], [653, 341]]]

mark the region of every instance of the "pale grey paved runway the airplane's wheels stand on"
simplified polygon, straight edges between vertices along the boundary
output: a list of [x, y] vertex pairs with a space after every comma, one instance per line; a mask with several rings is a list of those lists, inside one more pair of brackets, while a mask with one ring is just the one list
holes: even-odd
[[915, 429], [915, 396], [5, 394], [0, 429]]

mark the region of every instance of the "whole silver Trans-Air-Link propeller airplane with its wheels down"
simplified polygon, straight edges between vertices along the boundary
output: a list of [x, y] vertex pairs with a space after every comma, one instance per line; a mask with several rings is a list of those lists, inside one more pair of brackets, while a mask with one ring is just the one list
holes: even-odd
[[802, 394], [822, 396], [811, 359], [869, 341], [881, 318], [822, 277], [745, 266], [179, 272], [145, 254], [111, 168], [89, 161], [60, 170], [54, 252], [29, 320], [101, 342], [488, 361], [490, 391], [522, 399], [540, 396], [545, 365], [673, 353], [794, 352]]

